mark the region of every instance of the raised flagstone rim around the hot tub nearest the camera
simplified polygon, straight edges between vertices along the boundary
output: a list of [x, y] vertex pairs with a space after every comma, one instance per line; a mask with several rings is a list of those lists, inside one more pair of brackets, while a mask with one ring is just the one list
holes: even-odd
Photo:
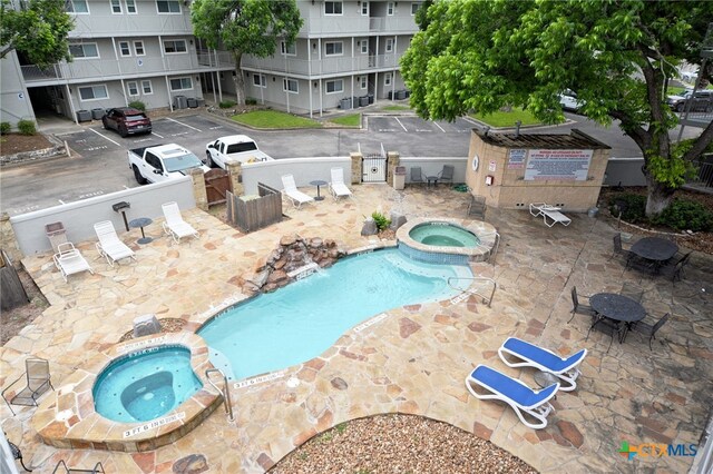
[[[131, 353], [164, 346], [182, 346], [191, 350], [191, 366], [202, 388], [175, 409], [148, 422], [116, 422], [96, 412], [94, 385], [111, 362]], [[106, 353], [95, 355], [68, 376], [53, 396], [40, 404], [31, 425], [46, 444], [55, 447], [153, 451], [185, 436], [223, 402], [223, 396], [205, 376], [209, 368], [214, 367], [208, 357], [208, 346], [194, 333], [160, 333], [119, 343]]]

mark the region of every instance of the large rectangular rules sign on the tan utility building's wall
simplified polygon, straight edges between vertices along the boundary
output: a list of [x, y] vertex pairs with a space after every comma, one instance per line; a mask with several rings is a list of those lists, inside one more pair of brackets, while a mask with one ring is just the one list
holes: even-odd
[[529, 150], [526, 181], [586, 181], [593, 150]]

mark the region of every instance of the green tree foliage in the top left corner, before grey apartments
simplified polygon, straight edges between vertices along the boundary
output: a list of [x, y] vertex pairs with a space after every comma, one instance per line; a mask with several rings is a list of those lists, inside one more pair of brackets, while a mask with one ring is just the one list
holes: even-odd
[[65, 11], [65, 2], [29, 0], [16, 10], [8, 0], [0, 0], [0, 59], [18, 50], [40, 67], [71, 61], [67, 34], [75, 22]]

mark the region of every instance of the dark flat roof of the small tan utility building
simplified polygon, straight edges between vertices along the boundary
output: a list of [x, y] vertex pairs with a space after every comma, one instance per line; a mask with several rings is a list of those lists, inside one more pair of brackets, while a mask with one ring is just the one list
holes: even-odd
[[569, 135], [564, 134], [494, 134], [488, 130], [473, 129], [473, 131], [489, 145], [505, 148], [544, 148], [551, 150], [564, 149], [612, 149], [608, 145], [597, 140], [587, 134], [572, 129]]

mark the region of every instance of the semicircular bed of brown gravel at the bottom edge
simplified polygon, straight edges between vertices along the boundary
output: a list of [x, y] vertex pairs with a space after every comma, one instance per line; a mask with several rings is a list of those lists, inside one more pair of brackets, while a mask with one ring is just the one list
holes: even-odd
[[414, 415], [378, 415], [335, 426], [280, 461], [272, 474], [536, 473], [489, 441]]

